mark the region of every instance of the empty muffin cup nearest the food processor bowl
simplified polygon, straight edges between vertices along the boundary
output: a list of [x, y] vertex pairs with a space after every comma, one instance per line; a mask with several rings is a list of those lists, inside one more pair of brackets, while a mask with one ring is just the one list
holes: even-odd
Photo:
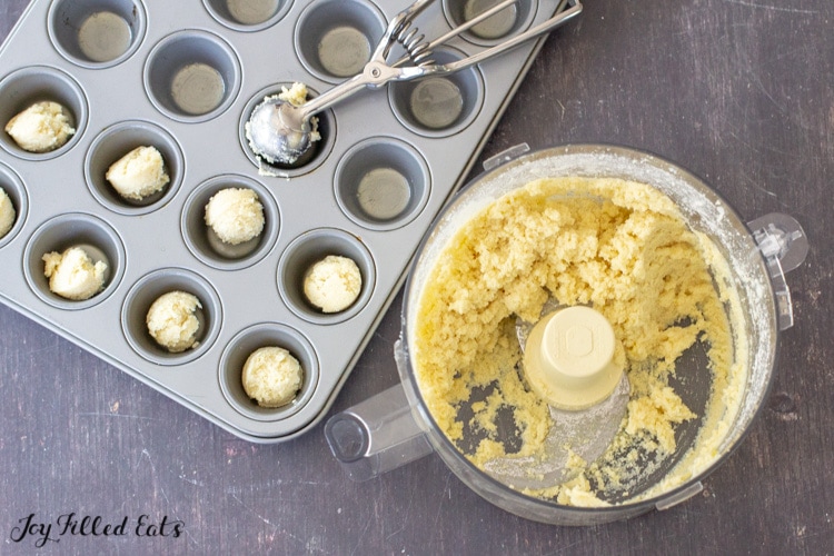
[[414, 220], [431, 187], [428, 165], [410, 145], [375, 137], [350, 148], [336, 168], [336, 199], [348, 218], [374, 230]]

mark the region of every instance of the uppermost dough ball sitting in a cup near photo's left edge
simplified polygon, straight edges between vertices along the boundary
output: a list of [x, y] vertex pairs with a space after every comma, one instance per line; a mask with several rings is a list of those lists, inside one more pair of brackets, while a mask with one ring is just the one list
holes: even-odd
[[36, 102], [6, 125], [6, 132], [29, 152], [49, 152], [63, 147], [76, 132], [69, 112], [58, 102]]

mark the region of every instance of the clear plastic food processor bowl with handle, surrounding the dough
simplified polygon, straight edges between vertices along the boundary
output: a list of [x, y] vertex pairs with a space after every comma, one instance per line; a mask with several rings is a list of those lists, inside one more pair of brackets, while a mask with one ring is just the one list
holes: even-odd
[[[520, 146], [487, 161], [486, 171], [436, 219], [406, 282], [401, 336], [395, 346], [401, 384], [332, 416], [325, 427], [327, 440], [355, 480], [436, 451], [481, 497], [536, 522], [595, 525], [672, 507], [703, 489], [704, 478], [739, 445], [759, 413], [773, 381], [778, 332], [793, 325], [784, 272], [802, 264], [807, 239], [800, 225], [785, 215], [767, 215], [745, 225], [698, 177], [647, 152], [605, 145], [526, 150]], [[578, 507], [525, 494], [474, 465], [438, 426], [415, 374], [417, 309], [445, 246], [465, 222], [499, 197], [539, 178], [559, 177], [618, 178], [659, 190], [674, 201], [692, 231], [717, 246], [728, 271], [712, 278], [731, 289], [735, 299], [725, 301], [725, 310], [734, 357], [741, 361], [728, 387], [736, 387], [738, 395], [722, 401], [717, 417], [699, 416], [681, 425], [673, 457], [647, 474], [627, 496], [607, 500], [610, 505], [604, 507]], [[698, 344], [675, 364], [675, 388], [696, 414], [711, 396], [711, 374], [704, 370], [707, 365], [706, 350]], [[712, 438], [708, 449], [699, 444], [704, 437]]]

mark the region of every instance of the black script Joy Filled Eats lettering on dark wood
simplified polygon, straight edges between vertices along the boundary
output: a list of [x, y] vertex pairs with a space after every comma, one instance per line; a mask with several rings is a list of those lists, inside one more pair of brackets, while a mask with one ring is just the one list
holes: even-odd
[[108, 522], [101, 516], [79, 516], [75, 512], [62, 514], [54, 522], [41, 520], [37, 514], [18, 519], [9, 538], [14, 543], [30, 542], [38, 548], [47, 543], [60, 543], [61, 537], [168, 537], [178, 538], [185, 533], [186, 524], [163, 516], [155, 520], [142, 514], [137, 518], [125, 516], [120, 520]]

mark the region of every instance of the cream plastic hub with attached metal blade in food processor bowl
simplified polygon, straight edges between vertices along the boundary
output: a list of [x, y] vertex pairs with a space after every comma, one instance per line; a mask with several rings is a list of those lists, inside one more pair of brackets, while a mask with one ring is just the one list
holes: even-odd
[[617, 339], [608, 320], [585, 306], [545, 308], [535, 322], [516, 325], [524, 375], [547, 401], [553, 426], [543, 454], [500, 457], [485, 465], [516, 488], [542, 489], [570, 479], [610, 445], [626, 415], [629, 385], [617, 364]]

